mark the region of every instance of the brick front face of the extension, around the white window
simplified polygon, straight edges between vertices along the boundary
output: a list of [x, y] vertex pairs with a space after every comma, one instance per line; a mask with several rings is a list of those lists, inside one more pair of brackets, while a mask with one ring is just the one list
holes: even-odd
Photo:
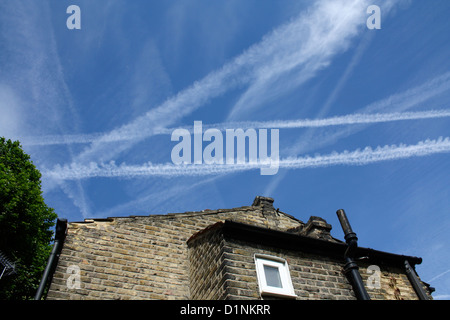
[[[267, 254], [288, 262], [292, 284], [299, 300], [354, 300], [351, 285], [342, 273], [342, 259], [276, 249], [254, 243], [227, 241], [225, 259], [228, 260], [228, 298], [258, 299], [258, 281], [254, 255]], [[373, 273], [367, 264], [361, 264], [364, 284]], [[367, 289], [372, 300], [417, 300], [404, 270], [380, 267], [380, 288]], [[367, 288], [367, 286], [366, 286]]]

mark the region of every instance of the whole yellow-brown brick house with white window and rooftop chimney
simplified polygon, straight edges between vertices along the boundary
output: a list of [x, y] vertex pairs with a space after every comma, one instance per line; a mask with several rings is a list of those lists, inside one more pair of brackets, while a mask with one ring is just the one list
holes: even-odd
[[[71, 222], [46, 299], [356, 299], [343, 273], [347, 244], [330, 230], [265, 197], [233, 209]], [[361, 247], [356, 256], [365, 257], [357, 264], [371, 299], [431, 299], [414, 271], [421, 258]]]

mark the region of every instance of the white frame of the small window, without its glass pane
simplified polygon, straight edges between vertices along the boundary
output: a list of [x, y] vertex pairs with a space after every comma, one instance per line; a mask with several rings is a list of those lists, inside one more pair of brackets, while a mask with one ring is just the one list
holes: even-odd
[[[258, 286], [261, 297], [276, 296], [282, 298], [296, 298], [292, 285], [289, 266], [286, 259], [270, 256], [267, 254], [256, 253], [254, 255], [256, 274], [258, 278]], [[266, 274], [264, 272], [264, 265], [278, 268], [282, 288], [272, 287], [267, 285]]]

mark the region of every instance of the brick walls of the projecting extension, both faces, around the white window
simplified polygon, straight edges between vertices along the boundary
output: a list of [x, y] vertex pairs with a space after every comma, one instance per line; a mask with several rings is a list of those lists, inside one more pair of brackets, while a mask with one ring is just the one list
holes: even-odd
[[[216, 224], [188, 241], [193, 299], [273, 299], [258, 288], [255, 254], [285, 259], [298, 300], [354, 300], [355, 294], [343, 274], [343, 257], [312, 254], [280, 246], [242, 241], [221, 232]], [[249, 237], [253, 238], [253, 237]], [[381, 261], [379, 286], [368, 286], [374, 275], [370, 264], [358, 262], [372, 300], [417, 300], [405, 270]]]

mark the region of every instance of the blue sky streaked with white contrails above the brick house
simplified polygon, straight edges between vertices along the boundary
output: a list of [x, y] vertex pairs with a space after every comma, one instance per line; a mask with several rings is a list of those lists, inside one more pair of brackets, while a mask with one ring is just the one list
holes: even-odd
[[[69, 221], [263, 195], [342, 239], [343, 208], [361, 246], [422, 257], [449, 299], [449, 14], [446, 0], [4, 0], [0, 135]], [[194, 121], [279, 129], [278, 172], [176, 166], [171, 132]]]

